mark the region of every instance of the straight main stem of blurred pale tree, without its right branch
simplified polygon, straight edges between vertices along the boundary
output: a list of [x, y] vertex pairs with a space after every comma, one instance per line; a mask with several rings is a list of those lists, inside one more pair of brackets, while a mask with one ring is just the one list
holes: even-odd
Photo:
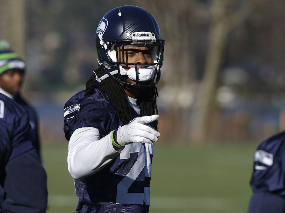
[[213, 1], [210, 8], [212, 19], [208, 34], [208, 51], [204, 68], [204, 77], [199, 87], [199, 93], [194, 109], [193, 140], [203, 143], [207, 139], [207, 118], [215, 101], [216, 82], [222, 61], [225, 38], [228, 25], [225, 21], [226, 2]]

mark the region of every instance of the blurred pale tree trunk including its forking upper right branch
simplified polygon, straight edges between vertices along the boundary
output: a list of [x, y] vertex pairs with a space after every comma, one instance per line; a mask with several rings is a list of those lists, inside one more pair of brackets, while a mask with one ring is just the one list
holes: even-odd
[[210, 116], [215, 104], [217, 78], [220, 71], [220, 64], [223, 58], [225, 40], [234, 27], [242, 23], [254, 8], [256, 0], [245, 0], [240, 2], [240, 8], [236, 11], [229, 11], [230, 5], [235, 0], [214, 0], [210, 7], [211, 26], [208, 35], [209, 45], [206, 55], [204, 78], [194, 109], [193, 140], [203, 143], [207, 139], [207, 119]]

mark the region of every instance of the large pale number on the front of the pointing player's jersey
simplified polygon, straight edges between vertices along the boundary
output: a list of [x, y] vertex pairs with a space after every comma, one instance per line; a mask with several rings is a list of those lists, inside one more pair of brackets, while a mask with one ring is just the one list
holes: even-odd
[[120, 158], [129, 159], [130, 153], [138, 153], [138, 159], [130, 169], [129, 173], [117, 185], [117, 204], [141, 204], [143, 201], [149, 205], [150, 194], [149, 187], [144, 187], [144, 193], [128, 193], [129, 187], [137, 179], [139, 174], [146, 165], [145, 148], [141, 143], [129, 144], [125, 147], [124, 151], [120, 153]]

